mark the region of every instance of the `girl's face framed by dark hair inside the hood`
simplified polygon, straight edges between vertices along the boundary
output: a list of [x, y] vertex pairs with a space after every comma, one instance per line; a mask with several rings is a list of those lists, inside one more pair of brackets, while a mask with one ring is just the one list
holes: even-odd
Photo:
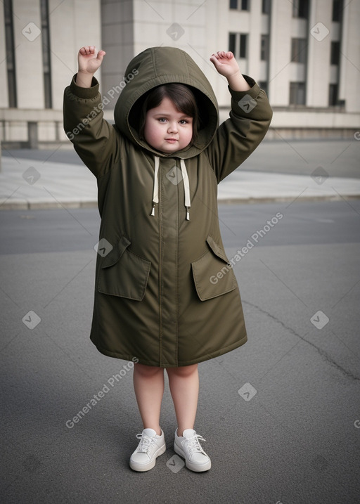
[[179, 112], [174, 103], [165, 97], [158, 107], [146, 112], [143, 134], [148, 144], [156, 150], [175, 153], [191, 142], [193, 118]]

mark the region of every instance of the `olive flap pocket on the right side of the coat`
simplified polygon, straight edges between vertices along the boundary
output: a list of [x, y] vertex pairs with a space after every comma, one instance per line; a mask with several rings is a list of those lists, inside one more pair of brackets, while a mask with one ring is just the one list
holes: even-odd
[[211, 236], [206, 239], [210, 250], [191, 263], [196, 292], [201, 301], [221, 296], [238, 287], [224, 250]]

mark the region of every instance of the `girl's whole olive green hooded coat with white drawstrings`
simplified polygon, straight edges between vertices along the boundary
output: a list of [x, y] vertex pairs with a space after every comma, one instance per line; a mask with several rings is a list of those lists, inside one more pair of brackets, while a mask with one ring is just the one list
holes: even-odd
[[[217, 213], [217, 184], [255, 150], [271, 121], [266, 94], [245, 79], [251, 89], [229, 89], [230, 118], [219, 127], [210, 83], [176, 48], [153, 47], [131, 60], [114, 126], [103, 119], [96, 79], [89, 89], [75, 79], [65, 89], [65, 131], [98, 183], [91, 340], [101, 353], [171, 368], [247, 341]], [[196, 145], [164, 154], [139, 138], [139, 103], [169, 82], [191, 86], [202, 129]]]

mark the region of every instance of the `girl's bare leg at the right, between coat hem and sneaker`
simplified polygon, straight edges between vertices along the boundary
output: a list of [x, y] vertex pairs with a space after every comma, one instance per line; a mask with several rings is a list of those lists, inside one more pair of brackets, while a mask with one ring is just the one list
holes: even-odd
[[177, 435], [182, 436], [185, 429], [193, 429], [199, 395], [198, 364], [167, 368], [169, 387], [174, 401]]

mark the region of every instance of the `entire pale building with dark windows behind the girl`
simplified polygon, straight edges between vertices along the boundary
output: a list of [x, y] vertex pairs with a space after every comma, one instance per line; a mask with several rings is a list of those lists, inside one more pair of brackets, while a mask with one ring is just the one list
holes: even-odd
[[269, 96], [267, 138], [352, 137], [360, 124], [360, 0], [4, 0], [0, 134], [6, 146], [66, 142], [63, 89], [79, 47], [106, 51], [98, 72], [111, 120], [129, 60], [149, 46], [188, 52], [229, 112], [210, 55], [233, 51]]

